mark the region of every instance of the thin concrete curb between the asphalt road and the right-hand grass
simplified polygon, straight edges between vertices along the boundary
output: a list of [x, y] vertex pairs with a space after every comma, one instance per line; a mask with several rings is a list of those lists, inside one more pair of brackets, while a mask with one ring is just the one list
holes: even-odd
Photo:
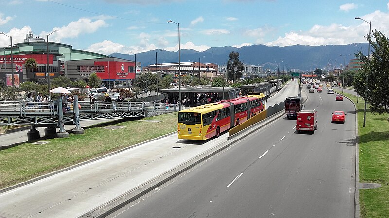
[[[335, 92], [337, 94], [340, 94], [338, 92]], [[347, 96], [343, 95], [343, 97], [347, 98], [349, 101], [351, 101], [354, 105], [354, 109], [356, 111], [356, 105], [354, 101], [352, 101], [350, 98]], [[355, 187], [355, 192], [354, 192], [354, 217], [355, 218], [360, 218], [361, 216], [361, 205], [359, 203], [359, 135], [358, 135], [358, 113], [355, 112], [355, 178], [354, 178], [354, 187]]]

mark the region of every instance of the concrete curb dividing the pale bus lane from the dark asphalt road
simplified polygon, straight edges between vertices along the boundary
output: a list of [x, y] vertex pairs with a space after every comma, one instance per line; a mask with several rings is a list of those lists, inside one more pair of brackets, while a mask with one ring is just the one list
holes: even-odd
[[250, 130], [250, 132], [242, 130], [241, 132], [245, 132], [245, 135], [241, 135], [240, 137], [238, 135], [233, 140], [228, 140], [220, 145], [217, 145], [217, 146], [213, 147], [212, 149], [210, 149], [210, 150], [208, 150], [208, 151], [206, 151], [198, 156], [195, 156], [193, 159], [179, 165], [175, 169], [168, 171], [168, 172], [150, 180], [149, 182], [144, 183], [140, 187], [136, 187], [133, 190], [130, 190], [130, 191], [124, 193], [123, 195], [117, 197], [116, 199], [114, 199], [112, 201], [107, 202], [106, 204], [100, 205], [96, 209], [88, 211], [87, 213], [81, 215], [79, 218], [104, 218], [104, 217], [106, 217], [107, 215], [124, 207], [126, 204], [141, 198], [143, 195], [147, 194], [151, 190], [153, 190], [153, 189], [159, 187], [160, 185], [170, 181], [171, 179], [175, 178], [177, 175], [183, 173], [184, 171], [187, 171], [187, 170], [193, 168], [194, 166], [203, 162], [204, 160], [208, 159], [209, 157], [211, 157], [211, 156], [223, 151], [224, 149], [230, 147], [237, 140], [240, 140], [240, 139], [246, 137], [247, 134], [251, 134], [252, 132], [257, 131], [258, 129], [264, 127], [265, 125], [282, 117], [283, 115], [284, 115], [283, 111], [280, 111], [280, 112], [268, 117], [268, 118], [270, 118], [270, 120], [267, 120], [267, 118], [266, 118], [266, 120], [263, 120], [263, 121], [259, 122], [258, 124], [255, 124], [258, 126], [252, 125], [254, 127], [254, 129]]

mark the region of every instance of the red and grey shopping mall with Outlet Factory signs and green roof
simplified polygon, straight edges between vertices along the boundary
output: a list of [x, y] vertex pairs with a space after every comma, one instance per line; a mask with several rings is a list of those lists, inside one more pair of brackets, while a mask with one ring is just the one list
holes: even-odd
[[[47, 52], [47, 45], [49, 46]], [[26, 81], [47, 79], [46, 65], [49, 57], [50, 78], [65, 76], [71, 80], [83, 79], [87, 83], [92, 73], [102, 79], [103, 84], [111, 87], [130, 87], [135, 79], [135, 62], [126, 59], [109, 57], [89, 51], [72, 49], [71, 45], [48, 42], [43, 38], [33, 37], [31, 31], [24, 42], [12, 46], [13, 66], [11, 68], [11, 47], [0, 48], [0, 79], [12, 85], [12, 69], [15, 85]], [[29, 58], [35, 59], [36, 69], [25, 66]], [[137, 62], [140, 73], [141, 63]]]

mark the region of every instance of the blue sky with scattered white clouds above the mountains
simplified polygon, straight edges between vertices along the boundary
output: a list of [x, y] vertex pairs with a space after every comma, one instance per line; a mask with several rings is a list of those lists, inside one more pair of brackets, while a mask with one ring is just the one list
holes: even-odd
[[[23, 42], [28, 31], [102, 54], [264, 44], [367, 42], [371, 21], [389, 37], [389, 0], [1, 0], [0, 32]], [[9, 38], [0, 35], [0, 47]]]

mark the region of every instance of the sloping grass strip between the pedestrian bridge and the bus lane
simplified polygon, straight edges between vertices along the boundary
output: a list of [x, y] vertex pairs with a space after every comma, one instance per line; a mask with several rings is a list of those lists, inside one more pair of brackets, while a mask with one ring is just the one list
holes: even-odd
[[114, 124], [121, 128], [92, 127], [82, 135], [46, 139], [47, 144], [1, 150], [0, 189], [177, 131], [177, 120], [177, 113], [163, 114]]

